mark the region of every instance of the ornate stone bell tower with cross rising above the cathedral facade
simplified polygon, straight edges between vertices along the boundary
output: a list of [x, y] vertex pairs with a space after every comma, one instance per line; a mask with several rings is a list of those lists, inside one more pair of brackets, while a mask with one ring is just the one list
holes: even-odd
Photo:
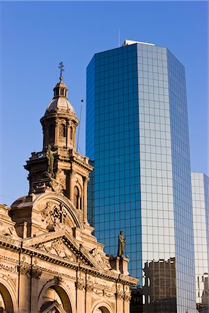
[[65, 195], [87, 222], [87, 184], [93, 167], [88, 158], [75, 150], [75, 131], [79, 120], [68, 101], [68, 88], [61, 75], [54, 87], [54, 97], [40, 119], [43, 132], [41, 152], [32, 152], [26, 161], [29, 170], [29, 195], [54, 191]]

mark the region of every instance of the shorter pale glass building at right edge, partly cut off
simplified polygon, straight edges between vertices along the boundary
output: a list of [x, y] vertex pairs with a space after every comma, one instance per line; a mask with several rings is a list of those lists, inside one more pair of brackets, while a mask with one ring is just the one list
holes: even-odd
[[196, 304], [199, 312], [209, 312], [209, 177], [202, 172], [192, 172], [192, 206]]

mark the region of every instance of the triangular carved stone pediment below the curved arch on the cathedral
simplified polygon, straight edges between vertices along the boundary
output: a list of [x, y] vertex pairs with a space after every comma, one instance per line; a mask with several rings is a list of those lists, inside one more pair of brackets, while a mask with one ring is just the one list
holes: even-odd
[[30, 247], [47, 254], [49, 257], [59, 258], [65, 262], [84, 263], [93, 268], [102, 269], [101, 262], [95, 259], [91, 252], [86, 250], [81, 243], [69, 234], [66, 230], [51, 232], [24, 242], [24, 247]]

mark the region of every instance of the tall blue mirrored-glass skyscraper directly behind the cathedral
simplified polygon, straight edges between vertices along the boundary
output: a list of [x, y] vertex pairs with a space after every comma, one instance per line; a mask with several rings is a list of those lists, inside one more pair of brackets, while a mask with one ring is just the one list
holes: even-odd
[[194, 313], [183, 65], [166, 47], [131, 40], [95, 54], [87, 67], [86, 112], [86, 154], [95, 168], [88, 220], [96, 236], [114, 254], [123, 230], [140, 310]]

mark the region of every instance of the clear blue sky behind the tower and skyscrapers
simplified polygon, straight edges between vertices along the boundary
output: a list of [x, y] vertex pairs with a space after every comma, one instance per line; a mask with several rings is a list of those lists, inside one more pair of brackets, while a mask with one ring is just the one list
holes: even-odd
[[[59, 81], [58, 63], [79, 116], [93, 54], [125, 38], [168, 47], [185, 65], [192, 170], [206, 172], [208, 2], [1, 1], [1, 190], [11, 204], [28, 193], [23, 165], [42, 150], [40, 118]], [[80, 152], [85, 154], [85, 110]]]

